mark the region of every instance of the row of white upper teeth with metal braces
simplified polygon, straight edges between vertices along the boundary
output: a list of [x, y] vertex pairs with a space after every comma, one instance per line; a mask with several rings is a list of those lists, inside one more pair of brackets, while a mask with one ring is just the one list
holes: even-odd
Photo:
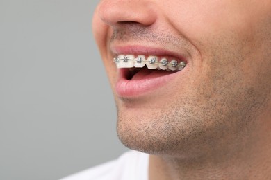
[[117, 68], [142, 68], [146, 64], [148, 69], [176, 71], [182, 70], [186, 66], [186, 62], [181, 61], [179, 64], [176, 60], [168, 62], [165, 57], [158, 61], [158, 57], [154, 55], [149, 55], [147, 60], [145, 55], [138, 55], [138, 57], [135, 57], [134, 55], [118, 55], [117, 58], [114, 58], [114, 62], [117, 65]]

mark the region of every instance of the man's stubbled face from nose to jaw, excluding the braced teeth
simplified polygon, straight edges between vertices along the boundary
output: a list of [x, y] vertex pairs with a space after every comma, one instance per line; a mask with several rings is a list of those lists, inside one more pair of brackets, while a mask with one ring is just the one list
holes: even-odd
[[[271, 104], [270, 0], [104, 0], [93, 30], [124, 145], [206, 154], [244, 146], [264, 124], [260, 116]], [[117, 69], [118, 55], [153, 55], [186, 66]]]

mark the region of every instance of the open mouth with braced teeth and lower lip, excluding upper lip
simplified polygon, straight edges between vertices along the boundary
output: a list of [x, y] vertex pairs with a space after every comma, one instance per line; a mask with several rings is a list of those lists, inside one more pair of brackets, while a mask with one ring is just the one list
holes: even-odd
[[169, 56], [118, 55], [114, 62], [120, 69], [116, 91], [119, 96], [140, 96], [163, 87], [186, 67], [186, 62]]

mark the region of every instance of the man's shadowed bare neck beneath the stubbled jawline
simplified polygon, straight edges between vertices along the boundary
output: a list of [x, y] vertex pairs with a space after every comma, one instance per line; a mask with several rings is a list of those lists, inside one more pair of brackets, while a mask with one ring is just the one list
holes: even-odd
[[149, 180], [271, 179], [271, 129], [231, 150], [204, 156], [151, 155]]

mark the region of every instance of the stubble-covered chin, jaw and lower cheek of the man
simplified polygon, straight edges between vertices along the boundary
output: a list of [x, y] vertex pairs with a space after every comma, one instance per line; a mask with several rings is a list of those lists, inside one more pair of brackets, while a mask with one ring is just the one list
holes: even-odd
[[236, 36], [216, 40], [208, 43], [200, 71], [190, 66], [144, 97], [116, 98], [124, 145], [195, 157], [227, 154], [227, 147], [241, 150], [249, 143], [258, 116], [270, 109], [270, 52], [246, 48]]

